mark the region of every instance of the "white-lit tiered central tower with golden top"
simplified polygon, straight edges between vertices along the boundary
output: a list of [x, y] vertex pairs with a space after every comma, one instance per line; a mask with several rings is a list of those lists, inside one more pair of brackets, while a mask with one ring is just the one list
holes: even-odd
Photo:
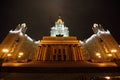
[[69, 31], [68, 27], [64, 25], [64, 22], [62, 19], [59, 17], [57, 22], [55, 22], [55, 26], [51, 28], [50, 31], [50, 36], [63, 36], [63, 37], [68, 37], [69, 36]]

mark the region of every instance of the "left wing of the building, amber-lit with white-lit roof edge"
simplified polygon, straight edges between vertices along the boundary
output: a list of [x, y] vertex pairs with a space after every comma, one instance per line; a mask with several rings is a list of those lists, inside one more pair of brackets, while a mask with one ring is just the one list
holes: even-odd
[[[34, 41], [25, 34], [26, 24], [19, 24], [15, 30], [10, 30], [0, 47], [0, 57], [10, 60], [32, 59], [36, 45]], [[23, 55], [19, 55], [23, 53]]]

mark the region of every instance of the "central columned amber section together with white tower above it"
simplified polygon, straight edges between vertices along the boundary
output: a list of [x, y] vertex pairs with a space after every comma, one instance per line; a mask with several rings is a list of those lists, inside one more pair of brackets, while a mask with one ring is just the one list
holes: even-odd
[[42, 61], [79, 61], [83, 60], [80, 43], [75, 36], [69, 36], [62, 19], [58, 19], [51, 35], [44, 36], [39, 43], [35, 60]]

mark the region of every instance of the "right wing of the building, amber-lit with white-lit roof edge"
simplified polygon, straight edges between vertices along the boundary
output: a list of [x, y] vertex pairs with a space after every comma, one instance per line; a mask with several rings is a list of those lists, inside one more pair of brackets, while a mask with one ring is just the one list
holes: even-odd
[[101, 25], [93, 25], [94, 34], [83, 42], [85, 59], [94, 61], [111, 61], [120, 58], [120, 49], [110, 31], [104, 30]]

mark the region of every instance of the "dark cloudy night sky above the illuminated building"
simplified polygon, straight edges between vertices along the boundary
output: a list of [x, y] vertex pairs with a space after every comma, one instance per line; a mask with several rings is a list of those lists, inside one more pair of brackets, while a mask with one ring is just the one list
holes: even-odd
[[119, 0], [1, 0], [0, 40], [23, 22], [31, 38], [42, 39], [50, 35], [50, 28], [61, 15], [70, 35], [80, 40], [90, 37], [93, 23], [99, 23], [120, 43], [119, 5]]

